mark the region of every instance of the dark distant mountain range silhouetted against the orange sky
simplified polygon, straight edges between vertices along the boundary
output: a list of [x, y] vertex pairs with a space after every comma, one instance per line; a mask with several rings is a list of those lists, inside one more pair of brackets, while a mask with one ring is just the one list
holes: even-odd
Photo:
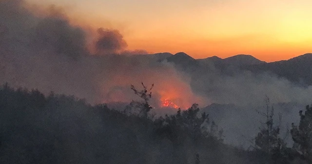
[[268, 72], [286, 78], [291, 82], [312, 85], [312, 53], [278, 62], [263, 62], [251, 55], [235, 55], [225, 59], [213, 56], [196, 60], [184, 52], [175, 55], [157, 53], [148, 55], [148, 57], [158, 62], [167, 60], [174, 63], [179, 70], [189, 73], [197, 72], [196, 76], [205, 76], [209, 72], [234, 75], [237, 72], [249, 70], [253, 73]]

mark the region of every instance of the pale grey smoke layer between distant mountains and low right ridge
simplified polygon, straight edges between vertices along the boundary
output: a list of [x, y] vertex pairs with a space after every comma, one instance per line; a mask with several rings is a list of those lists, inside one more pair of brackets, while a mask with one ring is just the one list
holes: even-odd
[[208, 96], [215, 103], [239, 106], [263, 105], [266, 96], [272, 103], [311, 103], [312, 86], [303, 87], [269, 73], [239, 71], [232, 76], [209, 74], [192, 82], [196, 93]]

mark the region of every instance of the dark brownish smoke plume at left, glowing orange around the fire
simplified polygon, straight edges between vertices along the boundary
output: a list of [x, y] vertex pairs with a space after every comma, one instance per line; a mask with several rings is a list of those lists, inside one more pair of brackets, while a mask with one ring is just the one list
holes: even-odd
[[163, 97], [177, 99], [184, 108], [202, 99], [171, 64], [132, 56], [147, 52], [127, 50], [118, 30], [98, 28], [94, 37], [56, 6], [46, 11], [28, 6], [22, 0], [0, 1], [0, 83], [91, 103], [130, 102], [136, 99], [130, 84], [140, 87], [140, 82], [155, 83], [154, 106]]

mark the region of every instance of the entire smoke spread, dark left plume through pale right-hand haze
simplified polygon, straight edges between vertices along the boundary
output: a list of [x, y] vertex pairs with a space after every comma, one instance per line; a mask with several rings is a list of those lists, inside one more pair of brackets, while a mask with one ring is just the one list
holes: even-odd
[[23, 0], [0, 0], [0, 83], [75, 95], [90, 103], [131, 102], [137, 97], [130, 84], [140, 87], [144, 82], [149, 87], [155, 83], [151, 104], [156, 107], [162, 99], [182, 108], [195, 102], [201, 106], [231, 104], [211, 106], [207, 112], [225, 132], [237, 132], [227, 134], [232, 143], [240, 134], [257, 130], [255, 109], [263, 107], [266, 95], [279, 105], [276, 112], [284, 113], [287, 123], [297, 121], [298, 110], [312, 102], [311, 86], [248, 71], [224, 75], [210, 68], [204, 73], [183, 73], [170, 62], [140, 56], [148, 53], [145, 50], [127, 50], [116, 29], [99, 27], [94, 33], [96, 37], [71, 24], [56, 7], [33, 11]]

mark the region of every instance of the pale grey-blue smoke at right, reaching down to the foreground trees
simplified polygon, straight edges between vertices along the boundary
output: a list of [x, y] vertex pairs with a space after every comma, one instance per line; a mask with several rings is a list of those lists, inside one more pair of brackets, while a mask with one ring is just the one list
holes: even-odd
[[274, 109], [274, 125], [280, 125], [281, 137], [292, 145], [291, 123], [298, 123], [298, 113], [312, 103], [312, 86], [300, 86], [269, 73], [234, 71], [232, 75], [209, 73], [195, 75], [192, 89], [208, 97], [213, 104], [203, 108], [224, 130], [225, 142], [248, 147], [263, 127], [265, 99]]

